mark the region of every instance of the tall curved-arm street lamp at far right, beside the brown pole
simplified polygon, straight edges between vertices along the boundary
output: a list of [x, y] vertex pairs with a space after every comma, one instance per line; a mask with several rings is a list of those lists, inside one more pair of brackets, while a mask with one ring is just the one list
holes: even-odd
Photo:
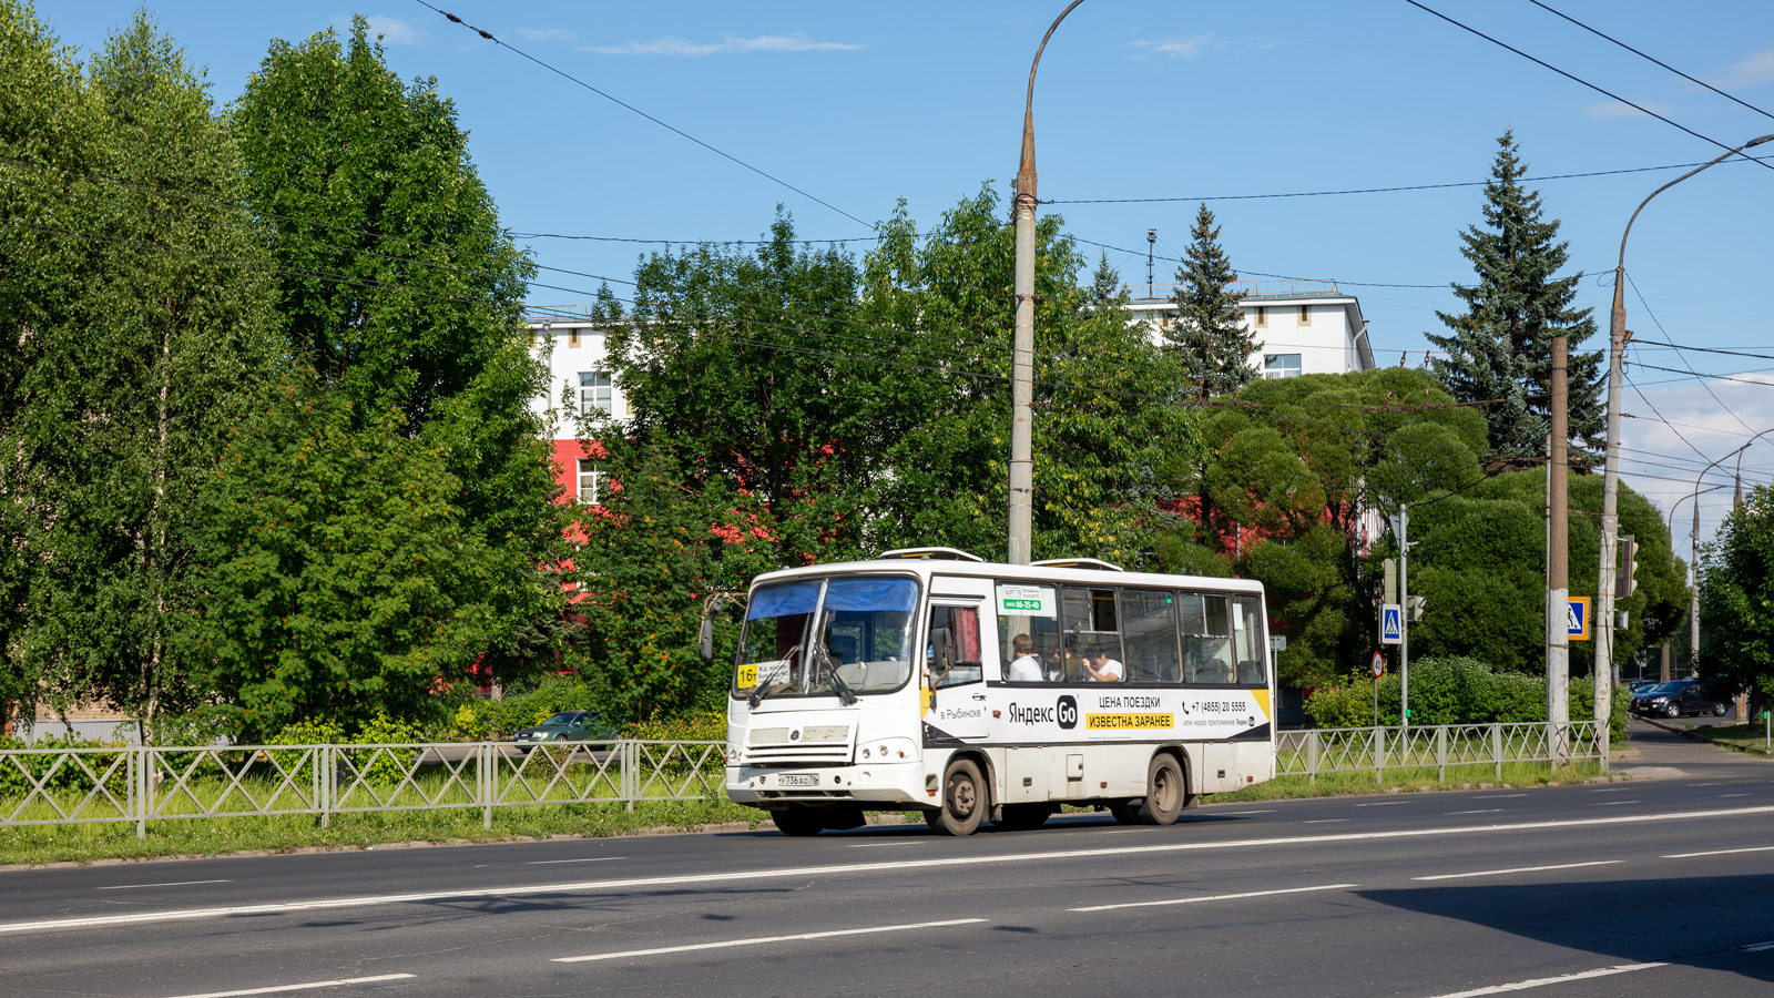
[[[1685, 181], [1687, 178], [1698, 174], [1699, 170], [1723, 163], [1724, 160], [1751, 149], [1763, 142], [1774, 140], [1774, 135], [1762, 135], [1760, 139], [1751, 139], [1742, 146], [1724, 153], [1717, 160], [1710, 160], [1687, 170], [1685, 174], [1675, 178], [1673, 181], [1653, 190], [1637, 208], [1632, 210], [1632, 218], [1627, 218], [1627, 231], [1620, 234], [1620, 263], [1614, 266], [1614, 309], [1609, 314], [1609, 336], [1607, 336], [1607, 462], [1602, 472], [1602, 563], [1597, 577], [1597, 622], [1600, 627], [1595, 632], [1595, 726], [1600, 737], [1607, 737], [1607, 723], [1613, 714], [1613, 682], [1614, 682], [1614, 558], [1618, 558], [1616, 545], [1620, 542], [1620, 366], [1623, 353], [1627, 352], [1627, 236], [1632, 234], [1632, 222], [1637, 222], [1639, 211], [1652, 202], [1652, 197], [1669, 190], [1671, 186]], [[1694, 504], [1696, 510], [1699, 504]], [[1696, 527], [1698, 535], [1699, 529]], [[1696, 568], [1696, 579], [1698, 568]], [[1698, 623], [1696, 629], [1696, 646], [1698, 646]]]

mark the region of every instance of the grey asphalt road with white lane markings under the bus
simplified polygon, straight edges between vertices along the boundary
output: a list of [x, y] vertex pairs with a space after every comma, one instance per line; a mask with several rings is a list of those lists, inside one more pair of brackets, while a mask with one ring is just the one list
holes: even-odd
[[1637, 765], [1668, 778], [1221, 804], [1164, 829], [4, 872], [0, 994], [1774, 993], [1774, 765], [1655, 735]]

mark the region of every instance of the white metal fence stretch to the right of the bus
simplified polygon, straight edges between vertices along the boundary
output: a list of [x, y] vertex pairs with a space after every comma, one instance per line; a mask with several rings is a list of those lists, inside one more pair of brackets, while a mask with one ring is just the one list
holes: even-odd
[[1511, 762], [1579, 760], [1597, 760], [1607, 769], [1607, 746], [1597, 739], [1595, 721], [1325, 728], [1281, 732], [1276, 739], [1276, 776], [1307, 781], [1320, 772], [1366, 771], [1380, 781], [1387, 769], [1433, 769], [1446, 781], [1449, 767], [1490, 767], [1501, 780]]

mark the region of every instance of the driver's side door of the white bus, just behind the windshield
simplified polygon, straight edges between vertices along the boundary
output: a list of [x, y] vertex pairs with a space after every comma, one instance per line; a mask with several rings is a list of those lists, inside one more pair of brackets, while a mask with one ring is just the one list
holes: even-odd
[[951, 595], [942, 582], [931, 591], [924, 630], [924, 744], [977, 742], [986, 737], [985, 595]]

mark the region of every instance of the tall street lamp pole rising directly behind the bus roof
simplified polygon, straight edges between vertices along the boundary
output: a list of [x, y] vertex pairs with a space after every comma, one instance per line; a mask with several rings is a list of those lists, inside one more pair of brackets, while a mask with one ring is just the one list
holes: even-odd
[[1071, 0], [1041, 36], [1029, 64], [1017, 165], [1017, 330], [1009, 348], [1009, 563], [1034, 559], [1034, 71], [1054, 28], [1084, 0]]

